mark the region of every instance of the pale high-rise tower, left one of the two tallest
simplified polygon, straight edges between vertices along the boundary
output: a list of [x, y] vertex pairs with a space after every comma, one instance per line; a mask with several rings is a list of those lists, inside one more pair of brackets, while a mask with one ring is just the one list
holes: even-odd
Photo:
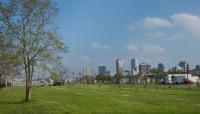
[[124, 60], [122, 60], [122, 59], [116, 60], [116, 72], [117, 72], [118, 76], [124, 75], [124, 65], [125, 65]]

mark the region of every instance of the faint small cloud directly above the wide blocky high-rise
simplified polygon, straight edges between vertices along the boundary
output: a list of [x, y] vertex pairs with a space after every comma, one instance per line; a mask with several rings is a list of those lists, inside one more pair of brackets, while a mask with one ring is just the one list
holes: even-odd
[[165, 53], [165, 49], [161, 46], [147, 44], [143, 47], [144, 52], [148, 54], [163, 54]]

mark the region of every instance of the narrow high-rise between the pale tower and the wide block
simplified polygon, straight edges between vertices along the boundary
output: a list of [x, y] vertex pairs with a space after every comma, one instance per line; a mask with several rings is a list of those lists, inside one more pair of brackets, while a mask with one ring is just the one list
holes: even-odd
[[139, 73], [139, 61], [137, 59], [131, 59], [131, 74], [136, 75]]

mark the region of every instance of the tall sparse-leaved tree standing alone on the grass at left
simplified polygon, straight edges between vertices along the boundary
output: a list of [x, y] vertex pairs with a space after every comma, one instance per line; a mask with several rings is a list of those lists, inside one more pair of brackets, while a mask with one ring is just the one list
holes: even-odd
[[0, 3], [0, 24], [3, 35], [13, 39], [21, 54], [26, 78], [26, 98], [31, 98], [34, 70], [39, 62], [57, 58], [55, 52], [67, 51], [52, 20], [58, 8], [50, 0], [10, 0]]

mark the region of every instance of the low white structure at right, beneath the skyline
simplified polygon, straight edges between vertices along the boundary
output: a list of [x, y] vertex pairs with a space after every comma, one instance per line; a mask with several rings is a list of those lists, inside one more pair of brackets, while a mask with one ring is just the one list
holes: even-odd
[[165, 77], [165, 83], [173, 83], [172, 81], [172, 76], [175, 76], [175, 82], [174, 83], [183, 83], [184, 80], [187, 79], [187, 75], [188, 75], [188, 80], [196, 83], [196, 82], [200, 82], [200, 78], [199, 76], [193, 76], [192, 74], [168, 74]]

